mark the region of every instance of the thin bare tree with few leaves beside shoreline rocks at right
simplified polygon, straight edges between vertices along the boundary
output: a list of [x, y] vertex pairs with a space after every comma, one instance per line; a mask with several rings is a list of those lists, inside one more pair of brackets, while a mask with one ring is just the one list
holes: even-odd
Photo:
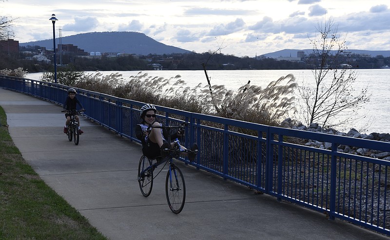
[[[351, 123], [351, 117], [364, 103], [370, 100], [367, 86], [354, 89], [356, 73], [346, 64], [345, 40], [339, 39], [337, 26], [332, 19], [318, 23], [316, 36], [310, 39], [313, 52], [309, 56], [314, 77], [298, 88], [302, 97], [303, 118], [308, 124], [316, 122], [322, 127]], [[344, 117], [342, 117], [344, 115]]]

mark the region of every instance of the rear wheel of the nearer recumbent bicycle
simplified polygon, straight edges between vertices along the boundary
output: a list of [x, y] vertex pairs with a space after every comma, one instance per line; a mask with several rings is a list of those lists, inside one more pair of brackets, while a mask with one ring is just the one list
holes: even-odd
[[150, 193], [152, 192], [153, 188], [153, 170], [149, 169], [145, 173], [141, 173], [150, 165], [152, 165], [152, 161], [149, 160], [147, 157], [142, 156], [139, 160], [138, 164], [138, 183], [139, 183], [139, 189], [141, 190], [141, 193], [143, 196], [148, 197]]

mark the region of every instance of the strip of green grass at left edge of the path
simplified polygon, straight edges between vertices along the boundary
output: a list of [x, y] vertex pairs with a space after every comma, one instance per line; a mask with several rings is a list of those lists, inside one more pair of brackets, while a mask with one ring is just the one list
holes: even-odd
[[107, 239], [25, 162], [1, 107], [0, 122], [0, 240]]

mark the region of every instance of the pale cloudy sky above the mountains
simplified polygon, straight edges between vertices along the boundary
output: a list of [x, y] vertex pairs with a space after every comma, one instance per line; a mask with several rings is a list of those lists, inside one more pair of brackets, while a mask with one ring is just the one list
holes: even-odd
[[333, 19], [349, 49], [390, 50], [389, 0], [0, 0], [15, 40], [135, 31], [197, 53], [254, 57], [311, 48], [318, 23]]

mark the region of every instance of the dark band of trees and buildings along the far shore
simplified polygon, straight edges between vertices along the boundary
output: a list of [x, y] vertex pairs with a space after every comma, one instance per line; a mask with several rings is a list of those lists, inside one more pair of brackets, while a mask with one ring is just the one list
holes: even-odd
[[[30, 47], [30, 48], [29, 48]], [[19, 55], [8, 55], [0, 53], [0, 69], [27, 69], [28, 72], [46, 72], [53, 69], [53, 64], [39, 63], [34, 60], [27, 60], [25, 52], [39, 53], [39, 46], [20, 47]], [[208, 70], [237, 70], [237, 69], [269, 69], [269, 70], [293, 70], [293, 69], [313, 69], [313, 56], [302, 61], [276, 60], [273, 58], [254, 59], [245, 57], [236, 57], [234, 55], [225, 55], [217, 53], [210, 58], [212, 52], [191, 53], [191, 54], [164, 54], [147, 56], [125, 56], [125, 57], [108, 57], [102, 55], [101, 58], [82, 58], [71, 53], [62, 55], [63, 64], [72, 64], [77, 71], [133, 71], [133, 70], [151, 70], [152, 63], [162, 65], [165, 70], [203, 70], [202, 63], [207, 63]], [[50, 59], [53, 56], [48, 56]], [[314, 56], [319, 59], [321, 56]], [[59, 58], [59, 54], [57, 54]], [[360, 57], [352, 56], [344, 60], [345, 63], [351, 64], [353, 68], [380, 68], [383, 65], [390, 65], [390, 57]], [[59, 60], [57, 60], [59, 63]]]

